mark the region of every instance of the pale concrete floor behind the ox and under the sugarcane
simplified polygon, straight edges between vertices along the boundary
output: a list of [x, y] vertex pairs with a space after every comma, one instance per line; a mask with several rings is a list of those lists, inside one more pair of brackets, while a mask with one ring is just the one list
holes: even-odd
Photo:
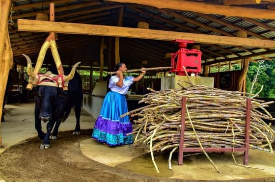
[[[26, 140], [30, 137], [37, 137], [34, 128], [34, 104], [7, 104], [5, 106], [7, 115], [4, 123], [0, 125], [3, 149], [0, 154], [10, 146]], [[21, 114], [18, 114], [21, 113]], [[22, 114], [24, 113], [24, 114]], [[95, 119], [84, 109], [81, 116], [81, 128], [91, 129]], [[60, 130], [73, 130], [75, 117], [72, 110], [66, 122], [62, 123]], [[43, 126], [45, 129], [45, 124]], [[176, 178], [185, 180], [249, 180], [275, 177], [275, 154], [265, 153], [258, 150], [249, 150], [249, 166], [261, 168], [252, 169], [236, 165], [231, 153], [210, 154], [211, 159], [219, 168], [218, 173], [209, 160], [202, 154], [184, 158], [182, 166], [177, 165], [177, 154], [172, 158], [173, 170], [168, 169], [167, 157], [158, 156], [156, 163], [160, 174], [155, 170], [151, 157], [143, 157], [137, 154], [133, 146], [125, 145], [120, 147], [108, 147], [93, 139], [86, 139], [81, 142], [83, 155], [109, 165], [114, 168], [127, 170], [134, 173], [158, 176], [165, 178]], [[237, 162], [243, 161], [241, 153], [234, 153]], [[0, 178], [0, 182], [3, 180]]]

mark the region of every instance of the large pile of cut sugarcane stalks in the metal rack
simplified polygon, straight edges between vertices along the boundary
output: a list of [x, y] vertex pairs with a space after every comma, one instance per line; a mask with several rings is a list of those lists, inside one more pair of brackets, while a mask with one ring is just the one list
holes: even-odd
[[151, 153], [153, 162], [153, 153], [171, 151], [170, 160], [179, 146], [183, 96], [187, 98], [184, 147], [244, 147], [248, 97], [251, 99], [249, 148], [273, 153], [275, 131], [263, 119], [275, 120], [265, 109], [274, 102], [265, 103], [249, 93], [179, 85], [181, 88], [163, 91], [148, 88], [151, 93], [139, 101], [148, 105], [121, 115], [138, 116], [134, 120], [135, 143], [144, 147], [144, 154]]

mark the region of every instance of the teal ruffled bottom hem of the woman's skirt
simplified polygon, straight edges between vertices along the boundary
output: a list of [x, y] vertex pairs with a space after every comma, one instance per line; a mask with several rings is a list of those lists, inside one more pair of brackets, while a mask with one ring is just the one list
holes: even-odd
[[133, 134], [129, 134], [128, 136], [123, 136], [122, 133], [110, 134], [96, 128], [93, 129], [92, 138], [95, 138], [97, 141], [106, 143], [110, 146], [127, 145], [133, 143]]

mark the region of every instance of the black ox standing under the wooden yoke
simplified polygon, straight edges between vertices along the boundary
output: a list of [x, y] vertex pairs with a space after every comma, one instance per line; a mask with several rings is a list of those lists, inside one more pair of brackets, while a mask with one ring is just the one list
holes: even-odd
[[[51, 70], [52, 71], [52, 70]], [[56, 71], [52, 71], [56, 74]], [[64, 69], [65, 75], [70, 72]], [[68, 90], [54, 86], [40, 85], [37, 87], [35, 99], [35, 129], [39, 138], [43, 140], [40, 149], [50, 148], [50, 138], [57, 139], [58, 128], [64, 122], [74, 106], [76, 116], [76, 127], [73, 134], [80, 134], [80, 113], [83, 100], [82, 79], [75, 72], [74, 77], [69, 81]], [[47, 133], [41, 129], [41, 120], [48, 122]], [[55, 128], [53, 130], [53, 127]], [[53, 130], [52, 134], [51, 131]]]

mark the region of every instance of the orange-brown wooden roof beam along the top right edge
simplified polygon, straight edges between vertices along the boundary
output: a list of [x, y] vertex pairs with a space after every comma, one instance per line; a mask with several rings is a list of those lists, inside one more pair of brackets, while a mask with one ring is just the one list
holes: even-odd
[[239, 16], [246, 18], [259, 18], [275, 20], [275, 11], [268, 9], [256, 9], [236, 6], [222, 6], [207, 4], [204, 2], [192, 2], [187, 0], [112, 0], [122, 3], [137, 3], [157, 8], [168, 8], [183, 11], [192, 11], [203, 14], [218, 14], [224, 16]]

